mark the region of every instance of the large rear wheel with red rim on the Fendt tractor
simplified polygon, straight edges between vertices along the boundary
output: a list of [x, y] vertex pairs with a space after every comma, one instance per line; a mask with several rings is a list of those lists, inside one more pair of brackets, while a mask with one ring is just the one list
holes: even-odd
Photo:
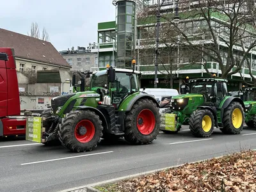
[[159, 129], [160, 114], [156, 103], [150, 99], [137, 100], [125, 116], [125, 140], [135, 145], [151, 143]]

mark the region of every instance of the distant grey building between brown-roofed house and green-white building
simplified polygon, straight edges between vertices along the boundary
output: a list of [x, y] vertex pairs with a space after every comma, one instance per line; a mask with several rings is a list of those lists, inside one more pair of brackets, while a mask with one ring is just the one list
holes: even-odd
[[93, 44], [86, 49], [85, 47], [74, 47], [65, 51], [60, 51], [61, 56], [67, 61], [67, 63], [72, 67], [73, 71], [85, 71], [85, 70], [95, 70], [98, 65], [98, 54], [97, 52], [91, 52], [90, 49], [93, 48]]

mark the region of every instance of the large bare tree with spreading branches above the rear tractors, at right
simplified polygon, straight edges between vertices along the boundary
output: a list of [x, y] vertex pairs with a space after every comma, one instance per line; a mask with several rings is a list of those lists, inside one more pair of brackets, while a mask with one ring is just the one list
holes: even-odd
[[[245, 7], [246, 1], [242, 0], [202, 0], [183, 18], [193, 20], [193, 26], [186, 26], [186, 23], [177, 25], [168, 17], [164, 18], [179, 31], [184, 45], [202, 52], [205, 61], [202, 65], [210, 76], [212, 74], [206, 64], [212, 60], [218, 63], [221, 77], [226, 79], [241, 72], [246, 57], [256, 46], [256, 31]], [[205, 22], [204, 26], [200, 25], [200, 19]], [[220, 43], [224, 45], [220, 47]], [[244, 45], [246, 49], [241, 50]]]

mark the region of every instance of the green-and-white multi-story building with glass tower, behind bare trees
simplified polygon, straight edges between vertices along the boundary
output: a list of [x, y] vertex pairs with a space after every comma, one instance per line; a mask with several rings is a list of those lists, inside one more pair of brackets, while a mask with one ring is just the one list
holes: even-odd
[[[136, 58], [136, 70], [142, 73], [141, 87], [153, 87], [154, 86], [154, 62], [155, 62], [155, 44], [156, 44], [156, 15], [153, 14], [145, 16], [147, 19], [141, 20], [141, 10], [145, 6], [148, 9], [156, 8], [158, 0], [117, 0], [113, 1], [113, 5], [116, 6], [116, 18], [113, 21], [101, 22], [98, 24], [98, 43], [92, 52], [99, 54], [99, 68], [106, 67], [106, 64], [111, 64], [115, 67], [130, 68], [131, 60]], [[161, 4], [161, 14], [174, 13], [175, 12], [175, 0], [166, 0]], [[223, 1], [224, 2], [224, 1]], [[184, 0], [179, 1], [179, 6], [182, 7], [180, 15], [188, 13], [191, 10], [195, 10], [198, 6], [198, 1]], [[230, 4], [225, 4], [230, 6]], [[244, 8], [244, 11], [246, 9]], [[140, 18], [139, 18], [140, 17]], [[151, 19], [148, 19], [151, 18]], [[223, 15], [212, 14], [212, 26], [219, 28], [220, 23], [223, 22]], [[161, 19], [161, 26], [164, 26], [166, 22]], [[207, 22], [204, 18], [197, 17], [195, 19], [182, 20], [180, 28], [185, 29], [186, 35], [191, 35], [195, 38], [201, 39], [201, 41], [195, 41], [195, 44], [212, 44], [212, 36], [207, 33], [202, 34], [200, 31], [207, 29]], [[218, 47], [221, 50], [221, 59], [223, 63], [227, 62], [228, 49], [225, 42], [227, 36], [227, 28], [221, 29], [223, 33], [220, 33], [218, 38]], [[253, 33], [252, 31], [244, 31], [244, 35]], [[226, 34], [225, 34], [226, 33]], [[151, 38], [148, 38], [151, 36]], [[148, 42], [148, 43], [147, 43]], [[245, 47], [248, 44], [245, 44]], [[179, 89], [179, 84], [186, 76], [190, 78], [207, 76], [207, 72], [202, 63], [205, 63], [209, 72], [215, 73], [217, 76], [221, 76], [221, 70], [219, 64], [207, 57], [207, 55], [196, 54], [193, 49], [188, 49], [186, 46], [176, 46], [170, 51], [166, 51], [168, 47], [164, 44], [159, 44], [161, 47], [161, 54], [159, 54], [158, 66], [158, 87], [169, 87], [170, 83], [170, 66], [172, 66], [173, 76], [173, 88]], [[237, 60], [241, 60], [243, 51], [241, 46], [236, 45], [234, 49], [234, 56]], [[145, 50], [148, 50], [145, 51]], [[143, 52], [143, 54], [141, 53]], [[146, 53], [145, 53], [146, 52]], [[246, 65], [251, 65], [252, 74], [256, 76], [256, 49], [252, 49], [250, 52], [250, 64], [244, 61], [241, 73], [232, 74], [228, 77], [229, 90], [237, 90], [241, 88], [244, 80], [251, 81], [249, 70]], [[204, 58], [204, 60], [203, 60]], [[158, 62], [159, 62], [158, 61]], [[161, 65], [160, 65], [161, 64]], [[232, 68], [234, 70], [236, 67]], [[168, 77], [169, 76], [169, 77]], [[167, 79], [167, 81], [166, 81]]]

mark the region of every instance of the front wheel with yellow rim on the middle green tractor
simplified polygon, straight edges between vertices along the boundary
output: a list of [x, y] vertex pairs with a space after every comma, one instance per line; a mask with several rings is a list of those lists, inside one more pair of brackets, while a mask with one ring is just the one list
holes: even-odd
[[214, 129], [214, 116], [208, 109], [193, 111], [189, 118], [189, 129], [192, 134], [200, 138], [208, 138]]

